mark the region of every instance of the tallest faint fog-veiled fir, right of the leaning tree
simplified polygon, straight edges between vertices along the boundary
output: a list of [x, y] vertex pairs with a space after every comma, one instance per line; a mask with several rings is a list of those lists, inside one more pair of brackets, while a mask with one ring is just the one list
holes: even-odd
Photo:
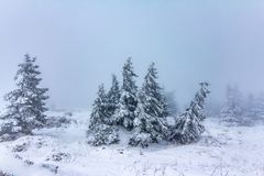
[[220, 118], [227, 125], [240, 125], [244, 123], [243, 98], [238, 87], [227, 87], [227, 101], [222, 107]]

